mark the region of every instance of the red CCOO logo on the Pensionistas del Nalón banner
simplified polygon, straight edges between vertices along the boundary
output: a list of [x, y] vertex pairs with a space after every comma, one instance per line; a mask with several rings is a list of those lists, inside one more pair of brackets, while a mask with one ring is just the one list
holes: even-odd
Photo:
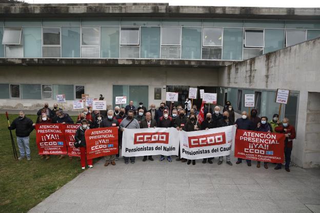
[[133, 144], [169, 144], [169, 132], [135, 133]]

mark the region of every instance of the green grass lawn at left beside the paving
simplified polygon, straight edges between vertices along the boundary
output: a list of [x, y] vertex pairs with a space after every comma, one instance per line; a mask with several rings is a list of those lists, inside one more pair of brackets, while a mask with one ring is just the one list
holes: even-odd
[[[10, 123], [17, 116], [9, 115]], [[35, 122], [36, 115], [26, 116]], [[12, 134], [19, 156], [14, 130]], [[41, 159], [34, 130], [30, 134], [31, 160], [14, 160], [5, 114], [0, 115], [0, 135], [0, 212], [27, 212], [82, 172], [75, 157], [72, 161], [68, 157], [58, 160], [57, 156]]]

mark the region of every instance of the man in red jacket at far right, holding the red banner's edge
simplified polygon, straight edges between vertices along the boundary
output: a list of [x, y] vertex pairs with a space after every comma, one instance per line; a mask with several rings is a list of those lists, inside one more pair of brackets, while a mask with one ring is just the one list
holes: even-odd
[[[284, 118], [282, 121], [282, 125], [274, 128], [276, 132], [284, 133], [286, 136], [285, 139], [285, 169], [286, 171], [290, 171], [289, 165], [291, 161], [291, 151], [292, 151], [292, 141], [295, 139], [295, 129], [292, 125], [289, 124], [289, 119]], [[278, 163], [274, 169], [281, 169], [282, 164]]]

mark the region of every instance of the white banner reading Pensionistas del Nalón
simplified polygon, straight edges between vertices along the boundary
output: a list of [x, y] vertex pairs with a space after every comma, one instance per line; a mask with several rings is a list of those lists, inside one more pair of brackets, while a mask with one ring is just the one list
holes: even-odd
[[122, 156], [177, 156], [179, 137], [176, 128], [125, 129], [122, 137]]

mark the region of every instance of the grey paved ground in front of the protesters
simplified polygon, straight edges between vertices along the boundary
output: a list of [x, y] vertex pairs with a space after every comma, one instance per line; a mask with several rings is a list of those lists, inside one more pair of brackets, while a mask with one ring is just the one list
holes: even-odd
[[99, 161], [30, 212], [320, 212], [319, 169], [255, 166]]

